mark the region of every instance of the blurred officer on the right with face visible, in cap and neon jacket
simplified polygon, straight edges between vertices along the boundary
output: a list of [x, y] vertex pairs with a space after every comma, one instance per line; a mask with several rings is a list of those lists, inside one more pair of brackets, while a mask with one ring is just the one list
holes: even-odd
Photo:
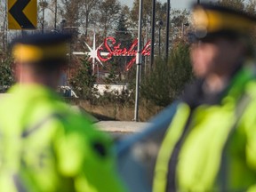
[[153, 191], [256, 191], [255, 18], [216, 4], [192, 18], [198, 80], [165, 132]]

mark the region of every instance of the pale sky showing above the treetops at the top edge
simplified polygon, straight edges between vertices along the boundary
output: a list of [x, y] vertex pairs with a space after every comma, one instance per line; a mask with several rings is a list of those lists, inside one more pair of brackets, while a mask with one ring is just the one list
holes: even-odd
[[[127, 4], [132, 7], [133, 0], [120, 0], [121, 4]], [[167, 0], [160, 0], [160, 2], [164, 3]], [[193, 2], [197, 2], [197, 0], [171, 0], [172, 9], [189, 9]], [[207, 0], [201, 0], [200, 2], [207, 2]]]

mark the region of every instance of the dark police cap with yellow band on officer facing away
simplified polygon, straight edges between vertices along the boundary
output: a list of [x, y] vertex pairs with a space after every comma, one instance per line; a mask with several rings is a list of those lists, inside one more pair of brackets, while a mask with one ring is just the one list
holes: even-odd
[[22, 63], [58, 62], [67, 59], [70, 34], [26, 35], [12, 41], [12, 55]]

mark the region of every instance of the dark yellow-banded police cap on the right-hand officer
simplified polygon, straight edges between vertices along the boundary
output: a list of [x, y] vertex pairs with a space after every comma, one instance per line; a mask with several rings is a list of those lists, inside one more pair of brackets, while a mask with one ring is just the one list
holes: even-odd
[[196, 39], [225, 36], [249, 36], [255, 17], [245, 12], [218, 4], [195, 4], [192, 12]]

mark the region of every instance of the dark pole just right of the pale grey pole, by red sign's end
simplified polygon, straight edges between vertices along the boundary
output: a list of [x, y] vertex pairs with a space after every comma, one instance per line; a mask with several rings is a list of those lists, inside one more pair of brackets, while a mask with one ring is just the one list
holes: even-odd
[[154, 54], [155, 54], [155, 23], [156, 23], [156, 0], [152, 0], [152, 14], [151, 14], [151, 44], [150, 44], [150, 68], [153, 68]]

